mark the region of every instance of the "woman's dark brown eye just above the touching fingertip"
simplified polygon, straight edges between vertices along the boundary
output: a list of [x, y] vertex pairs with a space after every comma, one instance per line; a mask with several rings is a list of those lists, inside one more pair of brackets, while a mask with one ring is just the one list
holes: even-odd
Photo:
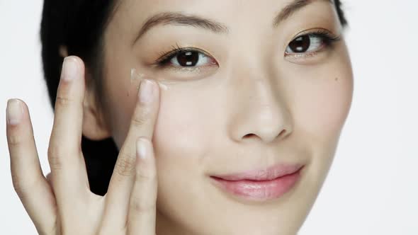
[[197, 49], [176, 48], [157, 61], [161, 67], [203, 67], [218, 64], [213, 57]]

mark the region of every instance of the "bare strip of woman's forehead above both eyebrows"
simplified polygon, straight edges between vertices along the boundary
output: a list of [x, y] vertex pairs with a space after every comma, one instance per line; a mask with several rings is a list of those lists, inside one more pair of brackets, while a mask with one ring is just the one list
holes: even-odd
[[[186, 13], [213, 19], [232, 28], [242, 25], [266, 25], [277, 17], [290, 16], [310, 6], [315, 10], [334, 10], [332, 0], [121, 0], [116, 4], [111, 25], [118, 29], [138, 30], [152, 16], [159, 13]], [[323, 13], [323, 12], [322, 12]]]

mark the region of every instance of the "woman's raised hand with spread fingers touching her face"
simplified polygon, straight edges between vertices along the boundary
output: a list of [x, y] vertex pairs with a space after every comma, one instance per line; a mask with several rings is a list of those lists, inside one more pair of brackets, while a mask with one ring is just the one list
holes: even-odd
[[159, 86], [143, 80], [140, 95], [146, 83], [153, 92], [149, 99], [138, 99], [103, 197], [90, 191], [80, 145], [85, 91], [81, 59], [64, 59], [48, 147], [50, 180], [40, 168], [28, 106], [20, 100], [8, 102], [13, 187], [39, 234], [155, 234], [157, 172], [151, 139]]

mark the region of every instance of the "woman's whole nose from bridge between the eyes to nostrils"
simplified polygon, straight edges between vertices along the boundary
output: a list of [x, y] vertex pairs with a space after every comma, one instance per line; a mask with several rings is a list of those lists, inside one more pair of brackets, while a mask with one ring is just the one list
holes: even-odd
[[261, 66], [260, 61], [260, 57], [240, 59], [234, 66], [236, 69], [231, 70], [236, 95], [230, 102], [236, 108], [230, 134], [236, 141], [259, 137], [272, 142], [292, 132], [290, 113], [278, 85], [280, 78], [270, 73], [268, 66]]

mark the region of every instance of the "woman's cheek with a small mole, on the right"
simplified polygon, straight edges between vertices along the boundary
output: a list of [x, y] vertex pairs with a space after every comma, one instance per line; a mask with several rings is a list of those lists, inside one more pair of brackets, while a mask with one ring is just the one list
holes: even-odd
[[[312, 68], [293, 82], [293, 118], [305, 144], [313, 148], [332, 148], [351, 108], [353, 73], [345, 47], [334, 59]], [[292, 106], [290, 106], [292, 107]]]

